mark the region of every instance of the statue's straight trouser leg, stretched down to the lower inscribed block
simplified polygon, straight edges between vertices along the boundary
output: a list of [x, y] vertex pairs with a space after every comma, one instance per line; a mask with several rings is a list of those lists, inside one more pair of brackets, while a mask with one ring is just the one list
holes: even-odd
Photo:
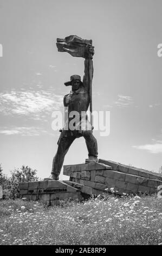
[[57, 153], [53, 159], [53, 167], [51, 170], [51, 174], [54, 174], [55, 176], [60, 175], [61, 168], [63, 166], [64, 157], [67, 154], [68, 149], [70, 145], [73, 143], [74, 139], [75, 139], [74, 136], [60, 137]]

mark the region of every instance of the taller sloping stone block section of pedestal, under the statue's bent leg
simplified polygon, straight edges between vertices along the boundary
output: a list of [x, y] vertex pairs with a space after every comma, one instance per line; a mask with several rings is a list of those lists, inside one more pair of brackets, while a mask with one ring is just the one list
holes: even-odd
[[63, 167], [63, 174], [70, 176], [68, 185], [79, 188], [87, 194], [96, 196], [107, 188], [116, 194], [157, 192], [162, 185], [162, 175], [148, 170], [126, 166], [121, 163], [99, 159], [98, 163], [74, 164]]

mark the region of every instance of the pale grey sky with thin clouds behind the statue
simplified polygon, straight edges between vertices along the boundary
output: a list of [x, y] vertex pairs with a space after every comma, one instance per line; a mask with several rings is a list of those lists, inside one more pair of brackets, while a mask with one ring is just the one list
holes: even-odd
[[[83, 76], [82, 58], [57, 51], [56, 38], [77, 35], [94, 45], [93, 110], [110, 112], [99, 158], [157, 172], [162, 166], [162, 43], [159, 0], [0, 0], [0, 163], [5, 174], [24, 164], [50, 175], [64, 86]], [[61, 127], [60, 127], [61, 128]], [[64, 164], [84, 163], [76, 139]], [[60, 175], [60, 179], [68, 179]]]

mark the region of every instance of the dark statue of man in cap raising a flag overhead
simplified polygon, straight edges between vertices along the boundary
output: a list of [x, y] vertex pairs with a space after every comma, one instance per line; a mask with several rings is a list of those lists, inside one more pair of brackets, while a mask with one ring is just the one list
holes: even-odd
[[[65, 86], [72, 86], [72, 90], [69, 94], [64, 96], [64, 107], [68, 107], [68, 115], [72, 111], [79, 113], [79, 127], [80, 129], [70, 130], [65, 129], [65, 125], [61, 130], [59, 138], [57, 153], [53, 159], [53, 167], [51, 170], [50, 179], [59, 180], [59, 175], [70, 145], [75, 138], [84, 137], [88, 149], [88, 161], [98, 161], [98, 145], [95, 137], [93, 136], [92, 115], [90, 123], [87, 118], [86, 111], [90, 104], [90, 113], [92, 113], [92, 78], [93, 78], [93, 55], [94, 46], [92, 46], [92, 40], [84, 40], [76, 35], [67, 36], [65, 39], [57, 39], [57, 48], [61, 52], [68, 52], [74, 57], [85, 58], [85, 74], [83, 81], [79, 75], [73, 75], [70, 77], [70, 81], [64, 83]], [[85, 111], [85, 116], [81, 115], [81, 112]], [[68, 118], [68, 124], [70, 122]]]

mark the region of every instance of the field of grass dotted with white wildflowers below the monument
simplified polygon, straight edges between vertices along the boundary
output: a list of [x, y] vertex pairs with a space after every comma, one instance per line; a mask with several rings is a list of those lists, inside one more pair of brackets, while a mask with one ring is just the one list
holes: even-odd
[[84, 203], [0, 202], [0, 245], [159, 245], [162, 199], [105, 196]]

